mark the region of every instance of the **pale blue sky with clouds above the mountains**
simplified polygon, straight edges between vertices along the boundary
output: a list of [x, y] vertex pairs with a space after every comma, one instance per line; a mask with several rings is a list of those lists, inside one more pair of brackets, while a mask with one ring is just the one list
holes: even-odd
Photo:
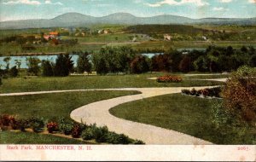
[[0, 21], [52, 19], [68, 12], [96, 17], [125, 12], [140, 17], [251, 18], [256, 17], [256, 0], [0, 0]]

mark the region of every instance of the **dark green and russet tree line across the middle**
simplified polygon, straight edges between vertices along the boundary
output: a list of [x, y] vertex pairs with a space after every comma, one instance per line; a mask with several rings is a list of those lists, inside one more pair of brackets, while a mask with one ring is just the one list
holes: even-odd
[[[256, 67], [256, 50], [253, 47], [233, 49], [229, 47], [209, 46], [206, 50], [168, 51], [149, 58], [131, 47], [106, 47], [95, 53], [78, 52], [77, 67], [71, 55], [58, 55], [55, 62], [40, 61], [36, 57], [26, 60], [27, 73], [30, 75], [65, 77], [71, 72], [96, 71], [107, 73], [143, 73], [143, 72], [231, 72], [241, 66]], [[1, 70], [1, 76], [18, 75], [20, 62], [9, 69], [10, 57], [4, 58], [6, 69]], [[17, 68], [18, 67], [18, 68]]]

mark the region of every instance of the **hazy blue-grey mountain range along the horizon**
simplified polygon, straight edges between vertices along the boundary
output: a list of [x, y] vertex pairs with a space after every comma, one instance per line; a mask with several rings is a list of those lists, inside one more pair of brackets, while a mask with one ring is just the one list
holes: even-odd
[[122, 25], [143, 25], [143, 24], [238, 24], [255, 25], [256, 17], [244, 19], [231, 18], [204, 18], [190, 19], [183, 16], [162, 14], [153, 17], [137, 17], [127, 13], [109, 14], [103, 17], [93, 17], [79, 13], [61, 14], [54, 19], [40, 20], [10, 20], [0, 22], [0, 29], [22, 29], [22, 28], [43, 28], [43, 27], [72, 27], [86, 26], [92, 24], [122, 24]]

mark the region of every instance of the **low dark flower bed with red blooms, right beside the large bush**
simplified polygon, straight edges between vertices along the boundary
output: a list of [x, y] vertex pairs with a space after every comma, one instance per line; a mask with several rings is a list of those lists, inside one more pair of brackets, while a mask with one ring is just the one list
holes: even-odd
[[184, 95], [195, 95], [195, 96], [204, 96], [204, 97], [217, 97], [221, 98], [220, 96], [221, 87], [214, 87], [211, 89], [202, 89], [202, 90], [182, 90]]

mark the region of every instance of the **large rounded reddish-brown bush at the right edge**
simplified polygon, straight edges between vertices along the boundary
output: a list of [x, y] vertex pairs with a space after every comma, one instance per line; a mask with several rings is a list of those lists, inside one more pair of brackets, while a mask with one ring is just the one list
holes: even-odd
[[256, 69], [240, 67], [224, 86], [224, 106], [238, 118], [256, 124]]

